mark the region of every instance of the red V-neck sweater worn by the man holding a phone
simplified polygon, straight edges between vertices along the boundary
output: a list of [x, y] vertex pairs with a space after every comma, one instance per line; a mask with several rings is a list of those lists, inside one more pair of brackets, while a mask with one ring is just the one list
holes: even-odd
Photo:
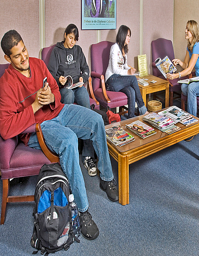
[[[63, 108], [58, 84], [43, 61], [29, 58], [31, 77], [26, 77], [10, 64], [0, 79], [0, 134], [4, 140], [12, 138], [34, 123], [53, 119]], [[35, 101], [37, 90], [43, 86], [43, 79], [55, 95], [53, 104], [44, 105], [35, 114], [31, 104]], [[22, 136], [25, 144], [30, 134]]]

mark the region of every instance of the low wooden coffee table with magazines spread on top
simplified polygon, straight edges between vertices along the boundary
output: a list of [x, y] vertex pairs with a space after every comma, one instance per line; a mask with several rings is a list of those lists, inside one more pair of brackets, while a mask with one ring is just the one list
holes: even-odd
[[[121, 122], [106, 125], [105, 129], [115, 125], [121, 125], [123, 128], [125, 128], [126, 124], [129, 124], [133, 121], [143, 121], [143, 116], [144, 115], [136, 116]], [[199, 120], [197, 117], [195, 118]], [[148, 122], [143, 122], [150, 125]], [[129, 204], [129, 165], [131, 163], [143, 159], [144, 157], [150, 156], [151, 154], [154, 154], [164, 148], [167, 148], [199, 133], [199, 121], [187, 126], [182, 125], [179, 122], [176, 125], [181, 129], [174, 132], [173, 134], [168, 135], [155, 128], [157, 133], [146, 139], [142, 139], [132, 131], [125, 128], [125, 130], [129, 131], [136, 140], [121, 147], [115, 146], [109, 140], [107, 140], [109, 154], [118, 162], [118, 189], [120, 204]]]

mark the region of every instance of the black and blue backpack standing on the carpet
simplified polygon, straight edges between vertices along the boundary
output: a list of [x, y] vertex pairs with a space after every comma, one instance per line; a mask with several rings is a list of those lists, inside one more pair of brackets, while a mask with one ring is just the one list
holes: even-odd
[[44, 164], [40, 169], [35, 189], [35, 224], [31, 245], [37, 251], [33, 254], [41, 250], [41, 254], [46, 252], [47, 256], [63, 248], [68, 250], [74, 239], [80, 242], [79, 214], [72, 223], [69, 194], [69, 181], [60, 164]]

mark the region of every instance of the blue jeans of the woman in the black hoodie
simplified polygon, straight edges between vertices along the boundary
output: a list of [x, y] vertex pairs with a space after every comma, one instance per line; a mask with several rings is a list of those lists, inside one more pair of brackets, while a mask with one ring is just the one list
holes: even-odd
[[[76, 102], [80, 106], [90, 108], [89, 94], [84, 86], [77, 87], [73, 90], [62, 87], [59, 90], [61, 93], [61, 103], [73, 104], [73, 102]], [[94, 158], [94, 148], [90, 140], [84, 140], [84, 147], [82, 151], [83, 162], [85, 157]]]

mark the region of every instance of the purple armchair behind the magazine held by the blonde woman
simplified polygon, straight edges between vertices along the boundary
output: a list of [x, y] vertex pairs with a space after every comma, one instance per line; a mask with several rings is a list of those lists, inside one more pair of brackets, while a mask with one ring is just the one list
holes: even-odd
[[[172, 41], [159, 38], [157, 40], [154, 40], [151, 42], [151, 49], [152, 49], [152, 69], [153, 69], [153, 76], [160, 77], [162, 79], [165, 79], [165, 77], [162, 75], [162, 73], [159, 71], [159, 69], [156, 67], [155, 60], [157, 58], [164, 58], [165, 56], [168, 56], [170, 60], [172, 61], [174, 57], [173, 52], [173, 44]], [[187, 77], [182, 77], [181, 79], [186, 79]], [[177, 93], [179, 90], [181, 90], [181, 84], [179, 84], [177, 81], [179, 79], [165, 79], [169, 81], [169, 92], [170, 92], [170, 99], [169, 99], [169, 105], [173, 105], [173, 99], [180, 98], [180, 94]], [[177, 97], [173, 98], [174, 92], [178, 95]]]

